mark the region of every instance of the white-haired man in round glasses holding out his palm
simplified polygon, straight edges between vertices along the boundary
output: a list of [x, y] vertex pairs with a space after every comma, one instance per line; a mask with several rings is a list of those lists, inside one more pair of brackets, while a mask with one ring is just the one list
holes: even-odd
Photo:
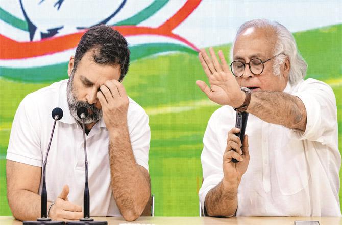
[[[201, 50], [199, 59], [210, 87], [196, 83], [223, 106], [203, 138], [205, 213], [341, 216], [335, 96], [327, 84], [303, 80], [307, 65], [291, 33], [277, 22], [252, 20], [237, 32], [230, 68], [222, 51], [221, 63], [209, 52], [211, 58]], [[234, 109], [250, 113], [243, 145]]]

